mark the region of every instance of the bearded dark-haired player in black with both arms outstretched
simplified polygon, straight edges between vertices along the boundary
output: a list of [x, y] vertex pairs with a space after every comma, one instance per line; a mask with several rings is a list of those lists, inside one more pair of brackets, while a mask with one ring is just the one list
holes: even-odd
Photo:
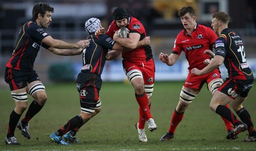
[[[16, 127], [20, 129], [24, 137], [31, 138], [28, 122], [42, 109], [47, 100], [45, 86], [33, 68], [40, 47], [42, 46], [61, 56], [73, 56], [81, 54], [84, 47], [88, 47], [90, 44], [88, 40], [71, 44], [54, 39], [45, 33], [44, 28], [48, 28], [51, 23], [53, 12], [54, 8], [47, 3], [35, 4], [32, 12], [33, 17], [20, 29], [12, 57], [6, 64], [4, 79], [9, 84], [12, 98], [15, 100], [15, 109], [10, 114], [8, 123], [6, 145], [20, 145], [14, 136]], [[19, 122], [20, 116], [28, 106], [28, 94], [34, 100], [28, 107], [24, 118]]]

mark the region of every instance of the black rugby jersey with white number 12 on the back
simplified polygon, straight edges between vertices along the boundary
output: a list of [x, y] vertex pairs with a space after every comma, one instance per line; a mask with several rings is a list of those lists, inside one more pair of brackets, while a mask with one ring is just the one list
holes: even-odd
[[221, 31], [215, 42], [216, 55], [225, 58], [224, 65], [228, 70], [228, 77], [232, 79], [253, 79], [252, 70], [246, 63], [243, 39], [234, 31], [226, 28]]

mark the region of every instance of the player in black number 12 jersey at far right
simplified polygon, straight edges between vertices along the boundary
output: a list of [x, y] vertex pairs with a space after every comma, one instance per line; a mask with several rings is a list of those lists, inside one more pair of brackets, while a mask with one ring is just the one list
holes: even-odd
[[[253, 86], [253, 72], [246, 62], [244, 40], [228, 28], [228, 22], [229, 15], [225, 12], [217, 12], [212, 15], [212, 28], [220, 35], [215, 42], [216, 55], [205, 50], [204, 54], [210, 54], [214, 56], [214, 59], [205, 68], [193, 68], [191, 74], [205, 75], [224, 63], [228, 71], [228, 78], [214, 93], [210, 107], [212, 111], [227, 118], [234, 125], [234, 129], [228, 133], [227, 138], [236, 137], [237, 134], [248, 129], [249, 135], [244, 141], [256, 141], [252, 118], [243, 106], [243, 102]], [[228, 103], [243, 123], [225, 106]]]

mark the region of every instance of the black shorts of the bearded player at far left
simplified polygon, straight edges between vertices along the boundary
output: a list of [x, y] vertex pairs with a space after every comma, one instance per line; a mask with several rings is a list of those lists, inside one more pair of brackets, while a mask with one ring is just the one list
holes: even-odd
[[4, 80], [9, 84], [11, 91], [25, 88], [28, 86], [28, 83], [33, 81], [40, 81], [35, 70], [22, 71], [8, 67], [5, 68]]

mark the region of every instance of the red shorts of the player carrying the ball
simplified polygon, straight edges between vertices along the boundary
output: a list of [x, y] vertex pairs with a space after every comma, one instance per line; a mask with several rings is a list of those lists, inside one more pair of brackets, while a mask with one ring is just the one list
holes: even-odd
[[131, 70], [140, 70], [143, 74], [144, 84], [154, 84], [156, 67], [153, 58], [141, 63], [123, 61], [123, 68], [125, 74]]

